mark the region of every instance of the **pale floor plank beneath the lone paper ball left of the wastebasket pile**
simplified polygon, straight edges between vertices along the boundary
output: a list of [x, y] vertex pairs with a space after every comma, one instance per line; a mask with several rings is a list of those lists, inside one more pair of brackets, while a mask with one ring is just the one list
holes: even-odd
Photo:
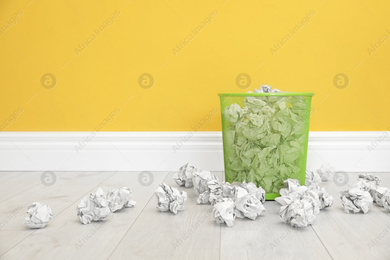
[[[222, 172], [215, 174], [223, 179]], [[152, 198], [109, 259], [219, 259], [220, 225], [209, 212], [211, 205], [198, 205], [193, 187], [179, 187], [172, 175], [173, 172], [168, 174], [164, 182], [187, 192], [184, 210], [176, 215], [160, 212], [156, 209], [156, 198]], [[154, 185], [157, 187], [158, 184]], [[198, 221], [201, 225], [195, 229], [192, 225]], [[184, 239], [186, 234], [188, 238]]]

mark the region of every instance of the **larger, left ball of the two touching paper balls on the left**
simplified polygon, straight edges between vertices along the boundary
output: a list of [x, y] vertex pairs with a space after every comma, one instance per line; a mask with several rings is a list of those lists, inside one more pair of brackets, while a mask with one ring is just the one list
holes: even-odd
[[77, 206], [76, 211], [83, 224], [105, 220], [111, 214], [106, 195], [100, 187], [96, 193], [91, 193], [89, 197], [85, 196]]

